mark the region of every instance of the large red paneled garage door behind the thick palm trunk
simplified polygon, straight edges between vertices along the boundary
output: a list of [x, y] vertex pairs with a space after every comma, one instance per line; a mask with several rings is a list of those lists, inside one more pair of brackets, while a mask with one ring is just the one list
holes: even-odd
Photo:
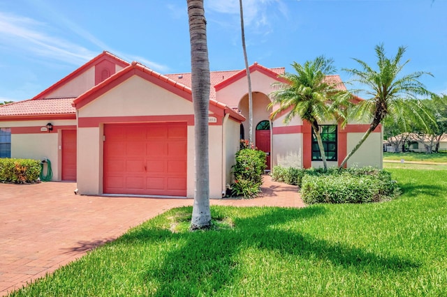
[[186, 123], [104, 125], [104, 193], [186, 196]]

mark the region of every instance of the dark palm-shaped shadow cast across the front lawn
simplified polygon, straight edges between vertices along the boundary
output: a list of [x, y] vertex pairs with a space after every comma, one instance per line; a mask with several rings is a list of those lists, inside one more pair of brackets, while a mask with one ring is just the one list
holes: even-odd
[[[191, 211], [191, 208], [187, 208]], [[247, 249], [277, 251], [295, 256], [297, 261], [329, 261], [334, 266], [357, 268], [359, 273], [399, 273], [419, 264], [393, 255], [378, 255], [354, 248], [345, 243], [334, 243], [300, 230], [280, 229], [284, 223], [322, 215], [325, 208], [263, 208], [251, 218], [232, 218], [233, 229], [171, 233], [164, 229], [140, 229], [121, 238], [126, 245], [132, 241], [179, 241], [179, 248], [161, 254], [156, 266], [145, 268], [146, 282], [156, 282], [157, 296], [211, 295], [240, 279], [242, 263], [238, 260]], [[289, 225], [288, 225], [289, 226]], [[290, 231], [289, 231], [290, 230]], [[254, 255], [254, 257], [256, 257]], [[274, 259], [273, 259], [274, 261]], [[361, 271], [361, 272], [360, 272]]]

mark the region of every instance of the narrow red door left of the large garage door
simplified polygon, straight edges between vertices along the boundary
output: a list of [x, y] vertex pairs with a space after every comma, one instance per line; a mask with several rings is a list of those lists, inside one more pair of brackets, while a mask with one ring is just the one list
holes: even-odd
[[62, 130], [62, 181], [76, 181], [76, 130]]

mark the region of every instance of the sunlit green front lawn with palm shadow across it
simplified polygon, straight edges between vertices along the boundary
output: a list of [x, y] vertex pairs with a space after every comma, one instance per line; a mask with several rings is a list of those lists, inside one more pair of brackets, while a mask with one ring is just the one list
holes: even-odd
[[175, 208], [12, 296], [447, 296], [447, 170], [389, 170], [389, 202]]

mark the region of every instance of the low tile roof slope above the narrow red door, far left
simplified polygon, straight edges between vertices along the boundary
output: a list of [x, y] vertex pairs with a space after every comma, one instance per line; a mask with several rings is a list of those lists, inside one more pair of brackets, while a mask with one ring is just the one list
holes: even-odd
[[0, 116], [31, 116], [37, 114], [75, 114], [74, 98], [29, 99], [0, 105]]

